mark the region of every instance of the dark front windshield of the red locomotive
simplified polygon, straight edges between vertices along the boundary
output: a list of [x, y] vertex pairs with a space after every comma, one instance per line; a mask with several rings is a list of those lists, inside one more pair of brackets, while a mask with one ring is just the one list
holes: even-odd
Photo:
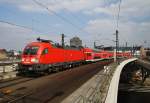
[[37, 47], [37, 46], [29, 46], [29, 47], [26, 47], [26, 48], [25, 48], [23, 54], [24, 54], [24, 55], [36, 55], [38, 49], [39, 49], [39, 47]]

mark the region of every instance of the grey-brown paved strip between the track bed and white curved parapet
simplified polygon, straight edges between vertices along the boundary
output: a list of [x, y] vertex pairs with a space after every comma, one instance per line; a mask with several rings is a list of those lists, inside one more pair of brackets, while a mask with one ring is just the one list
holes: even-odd
[[[95, 103], [104, 100], [104, 92], [107, 92], [108, 86], [105, 85], [110, 66], [104, 66], [104, 69], [89, 79], [80, 88], [66, 97], [61, 103]], [[105, 85], [105, 87], [103, 87]], [[102, 93], [103, 92], [103, 93]], [[101, 97], [100, 97], [101, 96]]]

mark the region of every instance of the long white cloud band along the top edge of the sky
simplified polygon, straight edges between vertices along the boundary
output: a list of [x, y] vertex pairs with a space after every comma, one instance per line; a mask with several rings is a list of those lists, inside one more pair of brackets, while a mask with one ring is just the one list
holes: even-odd
[[[36, 0], [50, 10], [60, 12], [67, 10], [70, 12], [82, 12], [88, 15], [104, 13], [109, 16], [116, 16], [119, 0]], [[20, 10], [28, 12], [47, 12], [32, 0], [1, 0], [0, 3], [9, 3]], [[121, 17], [124, 20], [129, 18], [139, 18], [150, 16], [150, 0], [122, 0]]]

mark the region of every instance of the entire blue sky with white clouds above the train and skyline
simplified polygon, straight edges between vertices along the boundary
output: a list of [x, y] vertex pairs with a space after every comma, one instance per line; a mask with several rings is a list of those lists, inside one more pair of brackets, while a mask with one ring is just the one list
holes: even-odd
[[[37, 37], [65, 43], [78, 36], [83, 45], [150, 46], [150, 0], [0, 0], [0, 48], [22, 50]], [[39, 5], [39, 4], [40, 5]]]

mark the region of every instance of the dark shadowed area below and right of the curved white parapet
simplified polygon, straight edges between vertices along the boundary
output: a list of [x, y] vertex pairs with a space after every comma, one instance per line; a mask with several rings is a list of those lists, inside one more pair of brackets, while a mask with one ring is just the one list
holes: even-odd
[[[150, 103], [149, 70], [133, 62], [121, 73], [117, 103]], [[121, 84], [122, 83], [122, 84]]]

